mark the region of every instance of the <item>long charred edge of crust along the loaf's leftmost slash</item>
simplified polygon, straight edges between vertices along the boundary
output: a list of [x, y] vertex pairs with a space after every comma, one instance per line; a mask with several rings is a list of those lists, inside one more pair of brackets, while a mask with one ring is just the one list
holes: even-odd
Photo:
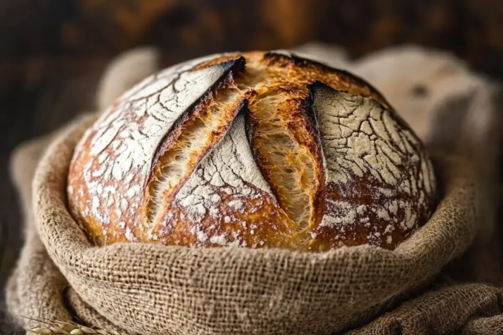
[[208, 88], [206, 93], [197, 99], [186, 111], [178, 118], [176, 122], [173, 123], [172, 127], [169, 131], [166, 132], [162, 140], [160, 141], [159, 146], [155, 149], [155, 154], [152, 157], [152, 161], [150, 164], [150, 174], [149, 177], [146, 178], [143, 187], [146, 187], [152, 179], [154, 175], [156, 164], [162, 155], [165, 154], [166, 150], [173, 144], [173, 142], [180, 136], [180, 128], [184, 123], [186, 123], [190, 116], [197, 116], [201, 113], [202, 110], [205, 110], [206, 107], [211, 103], [213, 97], [216, 92], [223, 88], [230, 87], [235, 84], [234, 76], [235, 74], [244, 71], [246, 60], [244, 57], [239, 57], [237, 59], [228, 60], [225, 62], [215, 63], [211, 66], [223, 66], [224, 73], [218, 78], [215, 83]]

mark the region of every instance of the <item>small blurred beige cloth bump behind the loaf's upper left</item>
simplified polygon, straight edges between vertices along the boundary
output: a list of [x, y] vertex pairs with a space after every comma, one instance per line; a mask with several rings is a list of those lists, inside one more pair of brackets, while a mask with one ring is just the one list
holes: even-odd
[[124, 91], [157, 72], [160, 52], [154, 47], [132, 49], [115, 57], [103, 72], [96, 93], [99, 114]]

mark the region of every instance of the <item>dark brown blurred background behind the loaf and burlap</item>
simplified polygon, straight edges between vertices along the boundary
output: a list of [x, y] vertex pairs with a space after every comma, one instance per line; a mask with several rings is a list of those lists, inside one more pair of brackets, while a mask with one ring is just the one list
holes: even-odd
[[[319, 40], [353, 57], [400, 43], [448, 49], [503, 78], [501, 0], [3, 0], [0, 2], [0, 287], [21, 247], [8, 178], [20, 142], [93, 108], [106, 63], [139, 45], [164, 65], [203, 54]], [[3, 301], [3, 289], [0, 294]], [[3, 321], [0, 332], [12, 328]]]

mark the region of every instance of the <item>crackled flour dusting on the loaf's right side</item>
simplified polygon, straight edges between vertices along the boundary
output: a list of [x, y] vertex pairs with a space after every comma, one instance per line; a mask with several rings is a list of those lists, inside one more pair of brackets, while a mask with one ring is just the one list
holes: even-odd
[[[338, 232], [341, 240], [361, 225], [371, 242], [392, 241], [395, 228], [412, 231], [434, 187], [419, 140], [374, 99], [325, 85], [313, 94], [326, 186], [341, 198], [326, 198], [319, 228]], [[357, 180], [365, 180], [363, 188]], [[366, 196], [371, 202], [361, 205]]]

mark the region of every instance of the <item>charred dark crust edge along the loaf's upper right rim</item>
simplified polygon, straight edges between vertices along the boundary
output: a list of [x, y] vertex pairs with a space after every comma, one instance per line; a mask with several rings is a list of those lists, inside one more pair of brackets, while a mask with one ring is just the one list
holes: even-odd
[[337, 69], [337, 68], [328, 66], [326, 64], [317, 62], [312, 59], [302, 58], [300, 56], [297, 56], [293, 52], [288, 52], [288, 54], [289, 55], [285, 55], [282, 53], [270, 51], [270, 52], [266, 52], [264, 54], [264, 59], [266, 61], [269, 61], [269, 64], [271, 64], [271, 65], [274, 64], [274, 65], [280, 66], [280, 67], [285, 67], [287, 65], [295, 65], [295, 66], [298, 66], [301, 68], [302, 67], [305, 68], [305, 67], [309, 67], [309, 66], [317, 67], [321, 71], [335, 74], [335, 75], [341, 77], [342, 79], [345, 79], [345, 81], [354, 84], [355, 86], [366, 88], [370, 93], [378, 96], [379, 99], [381, 99], [381, 101], [384, 102], [387, 106], [390, 106], [390, 103], [386, 100], [386, 98], [384, 98], [384, 96], [381, 94], [381, 92], [379, 92], [370, 83], [368, 83], [364, 79], [354, 75], [353, 73], [350, 73], [346, 70]]

